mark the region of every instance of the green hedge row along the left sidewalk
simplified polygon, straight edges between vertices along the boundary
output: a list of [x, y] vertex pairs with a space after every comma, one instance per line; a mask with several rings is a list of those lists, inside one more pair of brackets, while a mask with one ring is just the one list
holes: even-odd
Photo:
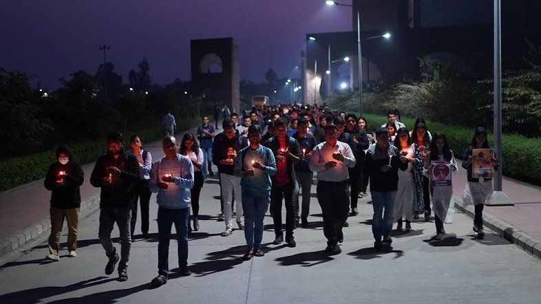
[[[188, 130], [200, 124], [200, 118], [182, 120], [177, 123], [178, 130]], [[163, 137], [161, 127], [142, 131], [128, 131], [124, 135], [125, 145], [131, 136], [138, 134], [145, 142], [153, 142]], [[105, 152], [105, 138], [103, 140], [88, 140], [70, 144], [74, 151], [74, 159], [80, 164], [95, 162], [98, 156]], [[54, 162], [55, 150], [24, 155], [17, 158], [0, 161], [0, 191], [6, 191], [23, 184], [28, 184], [45, 177], [47, 169]]]

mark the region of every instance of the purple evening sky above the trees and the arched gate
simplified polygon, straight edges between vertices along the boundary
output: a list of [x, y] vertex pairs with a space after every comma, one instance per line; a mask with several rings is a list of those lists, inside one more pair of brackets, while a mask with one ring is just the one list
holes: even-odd
[[0, 28], [0, 67], [56, 89], [59, 77], [80, 69], [94, 75], [104, 43], [125, 83], [142, 58], [154, 83], [189, 80], [190, 40], [229, 36], [239, 45], [241, 79], [264, 81], [268, 68], [299, 77], [305, 34], [348, 31], [352, 19], [351, 8], [324, 0], [3, 0]]

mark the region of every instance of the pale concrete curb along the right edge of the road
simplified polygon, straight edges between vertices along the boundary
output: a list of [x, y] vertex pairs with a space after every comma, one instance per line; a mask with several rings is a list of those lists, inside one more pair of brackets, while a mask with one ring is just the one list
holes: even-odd
[[[454, 207], [456, 209], [460, 210], [462, 213], [464, 213], [465, 215], [468, 215], [472, 219], [474, 218], [475, 209], [473, 205], [464, 206], [462, 197], [458, 197], [456, 195], [454, 195], [454, 201], [455, 201]], [[522, 232], [520, 229], [516, 228], [515, 226], [507, 223], [506, 221], [503, 221], [502, 219], [498, 219], [498, 217], [495, 217], [494, 215], [491, 215], [490, 213], [487, 213], [486, 211], [483, 211], [482, 213], [482, 222], [490, 230], [500, 235], [500, 237], [503, 237], [504, 239], [507, 239], [507, 241], [509, 241], [510, 243], [513, 243], [516, 246], [522, 248], [524, 251], [533, 255], [533, 257], [541, 259], [541, 240], [540, 239], [532, 237], [531, 235], [528, 235], [526, 232]]]

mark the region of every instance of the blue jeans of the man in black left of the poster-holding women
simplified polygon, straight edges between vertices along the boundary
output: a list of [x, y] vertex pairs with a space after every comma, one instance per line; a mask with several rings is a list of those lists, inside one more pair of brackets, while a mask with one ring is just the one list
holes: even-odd
[[372, 195], [372, 207], [374, 208], [372, 234], [376, 241], [381, 241], [382, 235], [389, 235], [391, 233], [392, 223], [394, 221], [394, 199], [396, 197], [396, 191], [371, 191], [370, 195]]

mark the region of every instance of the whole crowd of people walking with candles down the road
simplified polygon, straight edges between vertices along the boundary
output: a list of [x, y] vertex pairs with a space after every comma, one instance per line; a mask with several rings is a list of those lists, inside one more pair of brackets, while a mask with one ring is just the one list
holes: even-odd
[[[138, 205], [142, 237], [150, 237], [151, 193], [156, 193], [158, 203], [158, 276], [152, 283], [167, 283], [173, 224], [180, 274], [191, 274], [189, 235], [200, 230], [199, 197], [204, 180], [214, 175], [213, 165], [220, 183], [218, 221], [225, 224], [221, 236], [233, 233], [235, 219], [237, 228], [244, 230], [247, 248], [242, 259], [246, 261], [264, 256], [261, 244], [267, 212], [273, 219], [273, 244], [285, 241], [288, 247], [296, 246], [295, 229], [310, 226], [310, 191], [315, 176], [326, 252], [340, 251], [343, 227], [349, 226], [348, 217], [359, 215], [357, 203], [368, 195], [367, 189], [374, 210], [376, 250], [392, 242], [390, 232], [395, 223], [396, 230], [409, 232], [414, 219], [422, 217], [434, 220], [434, 240], [445, 235], [443, 224], [452, 201], [451, 172], [458, 166], [445, 134], [430, 133], [423, 118], [418, 118], [410, 131], [399, 121], [398, 111], [390, 110], [387, 122], [370, 129], [365, 118], [331, 112], [325, 105], [262, 107], [244, 111], [242, 118], [230, 113], [220, 133], [209, 117], [203, 116], [196, 134], [186, 133], [180, 142], [174, 137], [170, 113], [165, 120], [165, 156], [153, 161], [138, 135], [131, 138], [131, 151], [127, 151], [123, 135], [114, 131], [107, 136], [107, 153], [100, 155], [90, 177], [92, 186], [100, 188], [98, 237], [108, 259], [105, 273], [112, 274], [116, 268], [118, 281], [128, 279]], [[492, 184], [490, 175], [474, 174], [476, 149], [491, 149], [483, 128], [476, 129], [462, 164], [468, 175], [467, 192], [475, 205], [474, 231], [482, 239], [482, 207], [491, 195]], [[45, 187], [52, 191], [50, 254], [46, 257], [52, 261], [59, 260], [64, 219], [69, 228], [69, 257], [76, 257], [79, 186], [84, 180], [68, 146], [59, 146], [56, 158], [45, 178]], [[486, 161], [498, 169], [496, 155]], [[120, 255], [111, 239], [115, 223], [120, 231]]]

